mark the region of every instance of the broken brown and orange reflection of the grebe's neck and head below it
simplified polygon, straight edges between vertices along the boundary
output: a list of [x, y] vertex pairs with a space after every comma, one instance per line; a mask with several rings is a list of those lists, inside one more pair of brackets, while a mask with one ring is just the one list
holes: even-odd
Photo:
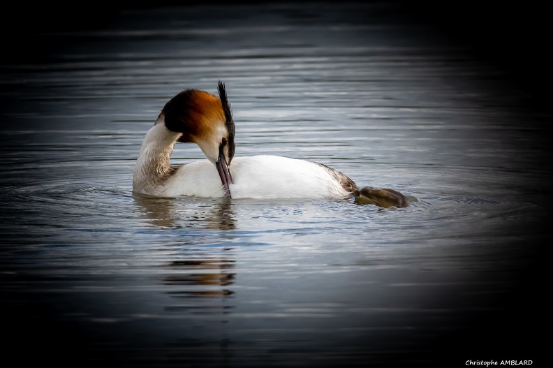
[[[152, 228], [182, 235], [155, 251], [168, 253], [158, 264], [156, 279], [171, 302], [165, 314], [178, 316], [178, 337], [168, 344], [167, 359], [175, 364], [223, 364], [230, 355], [230, 337], [223, 326], [235, 309], [232, 286], [235, 258], [231, 233], [214, 238], [203, 230], [232, 230], [234, 215], [228, 198], [146, 198], [135, 196], [139, 216]], [[157, 233], [157, 232], [156, 232]], [[205, 237], [205, 238], [202, 238]]]

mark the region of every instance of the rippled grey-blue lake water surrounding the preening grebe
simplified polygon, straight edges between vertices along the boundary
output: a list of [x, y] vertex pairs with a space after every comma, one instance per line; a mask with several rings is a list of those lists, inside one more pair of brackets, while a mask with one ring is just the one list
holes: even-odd
[[[105, 10], [28, 34], [36, 53], [1, 64], [6, 360], [540, 367], [550, 117], [396, 10]], [[133, 196], [165, 102], [219, 79], [236, 156], [318, 161], [417, 200]], [[202, 157], [178, 144], [172, 162]]]

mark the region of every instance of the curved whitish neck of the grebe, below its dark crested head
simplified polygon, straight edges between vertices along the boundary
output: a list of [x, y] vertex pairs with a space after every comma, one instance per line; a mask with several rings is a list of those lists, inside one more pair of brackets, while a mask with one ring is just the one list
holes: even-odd
[[169, 131], [161, 122], [148, 131], [136, 161], [133, 191], [154, 192], [174, 172], [169, 159], [180, 135]]

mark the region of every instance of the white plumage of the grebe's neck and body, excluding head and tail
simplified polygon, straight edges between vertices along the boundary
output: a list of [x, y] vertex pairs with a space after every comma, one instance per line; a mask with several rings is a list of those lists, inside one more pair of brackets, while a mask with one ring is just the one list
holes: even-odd
[[[171, 168], [170, 154], [180, 133], [154, 125], [142, 142], [133, 191], [148, 196], [224, 197], [214, 164], [194, 161]], [[232, 198], [346, 198], [339, 172], [318, 163], [281, 156], [235, 157], [230, 164]], [[345, 177], [345, 175], [344, 175]]]

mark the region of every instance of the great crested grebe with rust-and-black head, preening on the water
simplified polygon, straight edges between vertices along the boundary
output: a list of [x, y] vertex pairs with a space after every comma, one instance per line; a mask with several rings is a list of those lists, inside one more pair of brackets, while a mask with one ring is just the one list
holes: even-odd
[[[359, 190], [349, 177], [321, 163], [281, 156], [233, 159], [235, 122], [221, 81], [218, 90], [219, 98], [187, 89], [165, 104], [142, 142], [133, 175], [134, 193], [208, 198], [356, 197], [356, 201], [361, 198], [359, 203], [381, 207], [406, 205], [397, 191]], [[171, 166], [176, 142], [196, 143], [207, 160]]]

